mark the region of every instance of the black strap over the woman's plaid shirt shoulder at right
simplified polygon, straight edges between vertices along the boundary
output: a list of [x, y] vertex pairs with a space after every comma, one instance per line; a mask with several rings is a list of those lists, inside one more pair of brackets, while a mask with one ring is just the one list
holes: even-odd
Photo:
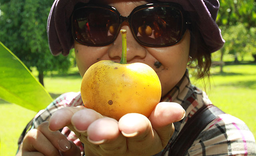
[[184, 156], [202, 130], [220, 114], [224, 112], [214, 105], [204, 105], [198, 109], [170, 145], [168, 155]]

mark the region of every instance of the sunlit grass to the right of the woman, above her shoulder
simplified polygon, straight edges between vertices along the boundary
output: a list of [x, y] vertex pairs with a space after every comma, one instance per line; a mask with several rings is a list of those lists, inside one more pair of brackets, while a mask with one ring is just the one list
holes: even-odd
[[[224, 112], [244, 121], [256, 136], [256, 64], [226, 65], [212, 68], [210, 86], [206, 92], [212, 103]], [[201, 81], [191, 78], [192, 84], [204, 88]], [[205, 80], [208, 83], [208, 80]]]

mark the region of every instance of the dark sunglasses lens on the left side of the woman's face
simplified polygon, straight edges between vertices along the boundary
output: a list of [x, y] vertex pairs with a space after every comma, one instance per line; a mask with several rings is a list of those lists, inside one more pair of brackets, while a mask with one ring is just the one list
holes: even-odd
[[86, 45], [107, 45], [116, 37], [118, 15], [107, 8], [84, 7], [72, 17], [74, 39]]

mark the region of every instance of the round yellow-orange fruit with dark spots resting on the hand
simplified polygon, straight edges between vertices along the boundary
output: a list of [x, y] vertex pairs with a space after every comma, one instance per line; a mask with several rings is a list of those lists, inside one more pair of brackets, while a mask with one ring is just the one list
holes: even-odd
[[127, 113], [149, 117], [160, 101], [161, 84], [156, 72], [144, 63], [102, 60], [84, 74], [81, 96], [85, 107], [116, 120]]

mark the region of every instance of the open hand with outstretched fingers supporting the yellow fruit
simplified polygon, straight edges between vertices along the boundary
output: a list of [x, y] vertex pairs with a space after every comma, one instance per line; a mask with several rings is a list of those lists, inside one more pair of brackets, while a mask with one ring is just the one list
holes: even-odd
[[68, 126], [84, 143], [86, 156], [144, 156], [160, 152], [174, 132], [173, 122], [183, 119], [178, 103], [158, 103], [149, 118], [126, 114], [116, 121], [85, 107], [66, 107], [56, 111], [49, 128]]

